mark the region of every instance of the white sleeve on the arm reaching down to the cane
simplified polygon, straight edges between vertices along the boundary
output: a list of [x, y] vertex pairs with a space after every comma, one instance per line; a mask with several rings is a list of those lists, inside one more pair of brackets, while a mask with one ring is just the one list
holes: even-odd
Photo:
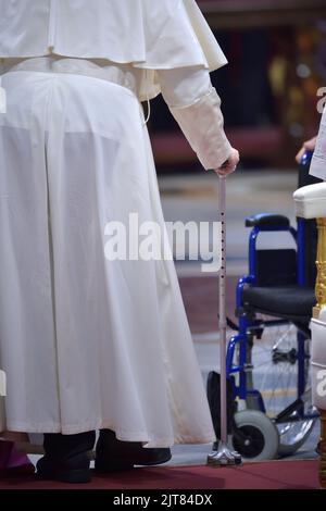
[[218, 169], [231, 146], [224, 133], [221, 99], [200, 67], [158, 71], [162, 95], [205, 170]]

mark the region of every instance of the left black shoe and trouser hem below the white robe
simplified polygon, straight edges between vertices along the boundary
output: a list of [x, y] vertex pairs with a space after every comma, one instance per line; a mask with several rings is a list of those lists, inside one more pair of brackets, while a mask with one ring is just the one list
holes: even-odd
[[45, 434], [46, 456], [36, 464], [38, 477], [64, 483], [89, 483], [89, 451], [93, 448], [95, 438], [95, 432]]

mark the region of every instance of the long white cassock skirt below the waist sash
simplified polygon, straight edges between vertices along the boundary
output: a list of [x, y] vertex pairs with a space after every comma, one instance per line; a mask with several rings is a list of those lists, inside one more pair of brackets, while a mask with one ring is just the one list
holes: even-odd
[[172, 261], [108, 261], [109, 221], [164, 228], [143, 114], [121, 85], [10, 72], [0, 115], [7, 427], [109, 427], [148, 447], [214, 433]]

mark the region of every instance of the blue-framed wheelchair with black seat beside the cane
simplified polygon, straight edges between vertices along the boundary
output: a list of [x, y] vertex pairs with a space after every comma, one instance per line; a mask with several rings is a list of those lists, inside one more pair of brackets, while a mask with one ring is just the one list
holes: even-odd
[[[308, 175], [311, 155], [301, 163], [299, 186], [319, 180]], [[311, 403], [309, 328], [317, 233], [315, 221], [298, 219], [293, 228], [281, 214], [256, 214], [246, 226], [249, 273], [237, 284], [238, 333], [227, 346], [226, 371], [233, 445], [253, 461], [293, 454], [318, 416]], [[286, 233], [293, 247], [259, 249], [263, 233]]]

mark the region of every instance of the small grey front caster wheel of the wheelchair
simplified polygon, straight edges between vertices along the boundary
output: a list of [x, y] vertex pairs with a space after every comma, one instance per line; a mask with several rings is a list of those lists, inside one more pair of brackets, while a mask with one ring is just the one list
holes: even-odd
[[277, 456], [278, 431], [264, 413], [242, 410], [235, 414], [235, 424], [233, 445], [243, 460], [273, 460]]

